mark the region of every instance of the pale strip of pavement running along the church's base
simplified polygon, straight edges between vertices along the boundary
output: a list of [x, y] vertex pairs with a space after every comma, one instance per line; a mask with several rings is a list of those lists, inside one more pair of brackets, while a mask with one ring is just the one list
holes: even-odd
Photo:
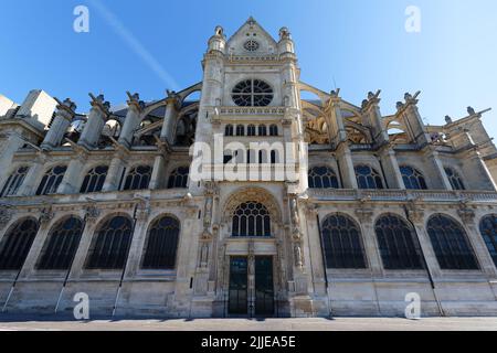
[[0, 314], [0, 331], [497, 331], [497, 318], [61, 321]]

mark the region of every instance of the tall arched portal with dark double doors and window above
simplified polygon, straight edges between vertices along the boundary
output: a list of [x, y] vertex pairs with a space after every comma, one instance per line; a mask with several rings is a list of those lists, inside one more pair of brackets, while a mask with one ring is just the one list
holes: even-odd
[[223, 212], [222, 282], [226, 317], [277, 317], [281, 306], [281, 211], [266, 190], [232, 194]]

